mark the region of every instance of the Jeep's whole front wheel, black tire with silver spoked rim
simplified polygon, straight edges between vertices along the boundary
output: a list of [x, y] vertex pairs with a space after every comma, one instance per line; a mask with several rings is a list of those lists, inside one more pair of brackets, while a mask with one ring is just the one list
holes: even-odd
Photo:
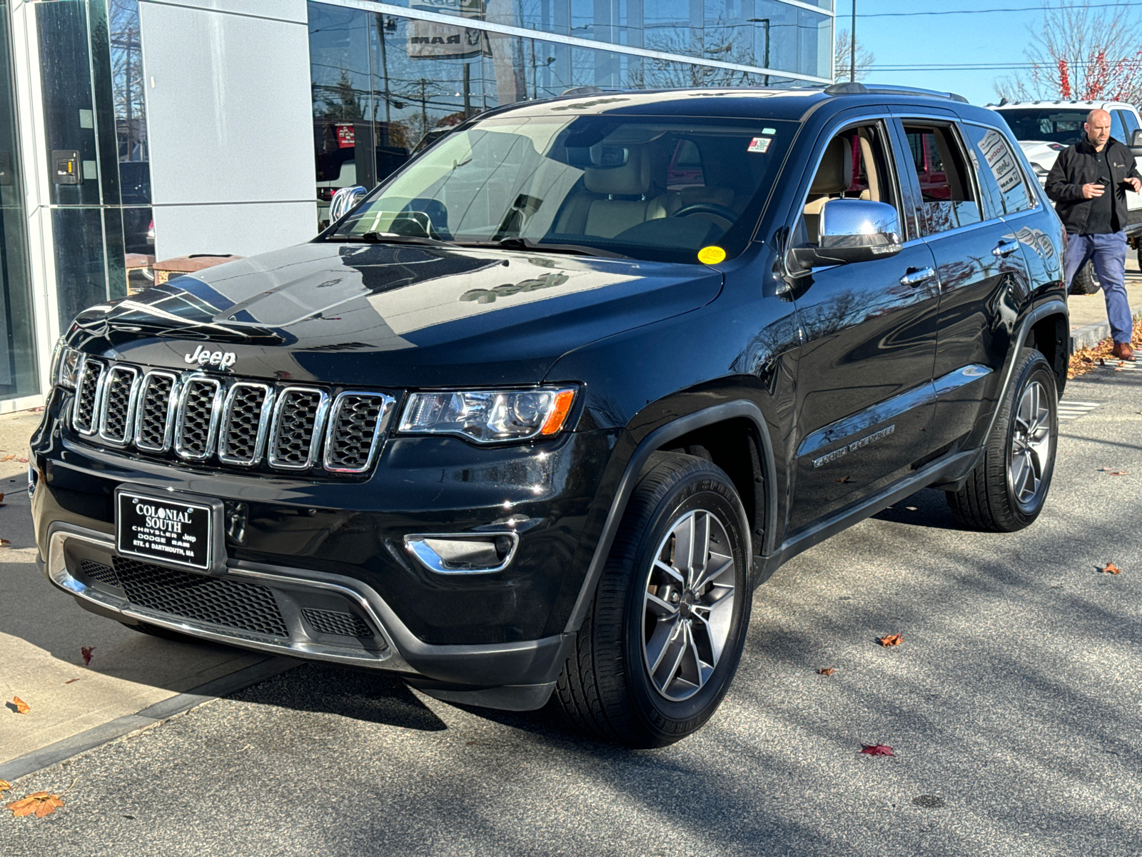
[[[674, 554], [695, 534], [707, 545], [701, 567]], [[556, 704], [572, 723], [650, 748], [709, 720], [746, 642], [748, 534], [722, 470], [689, 455], [651, 456], [556, 684]]]

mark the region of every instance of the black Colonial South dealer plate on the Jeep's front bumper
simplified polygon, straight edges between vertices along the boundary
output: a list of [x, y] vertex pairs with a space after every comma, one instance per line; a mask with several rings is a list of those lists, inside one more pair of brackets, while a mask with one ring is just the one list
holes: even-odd
[[208, 571], [214, 562], [215, 508], [171, 495], [116, 492], [115, 550], [168, 566]]

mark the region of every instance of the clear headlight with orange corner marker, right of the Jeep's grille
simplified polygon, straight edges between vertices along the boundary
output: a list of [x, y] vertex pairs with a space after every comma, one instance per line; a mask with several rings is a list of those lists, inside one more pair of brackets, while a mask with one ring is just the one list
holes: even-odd
[[401, 431], [459, 434], [477, 443], [549, 436], [563, 427], [574, 392], [539, 387], [413, 393], [404, 406]]

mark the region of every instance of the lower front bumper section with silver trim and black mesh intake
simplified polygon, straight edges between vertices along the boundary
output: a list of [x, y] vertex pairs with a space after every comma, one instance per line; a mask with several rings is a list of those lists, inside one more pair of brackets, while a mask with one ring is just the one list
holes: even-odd
[[[123, 575], [127, 564], [147, 563], [116, 556], [114, 539], [104, 532], [56, 523], [47, 544], [41, 570], [93, 612], [249, 649], [392, 671], [456, 702], [515, 710], [542, 705], [574, 636], [432, 646], [353, 578], [238, 562], [211, 577], [144, 569], [152, 578], [147, 586], [138, 575], [130, 583]], [[155, 576], [163, 578], [159, 585]]]

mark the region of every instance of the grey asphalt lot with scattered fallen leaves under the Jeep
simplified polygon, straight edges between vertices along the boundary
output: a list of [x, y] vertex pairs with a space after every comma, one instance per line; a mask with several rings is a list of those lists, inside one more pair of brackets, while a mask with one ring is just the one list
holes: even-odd
[[[755, 595], [722, 708], [673, 747], [600, 745], [548, 712], [461, 708], [304, 665], [19, 779], [5, 796], [46, 790], [64, 807], [5, 814], [0, 844], [1137, 855], [1142, 369], [1100, 368], [1065, 401], [1035, 526], [965, 534], [926, 490], [796, 558]], [[1108, 561], [1121, 574], [1097, 571]], [[902, 644], [877, 644], [887, 633]]]

